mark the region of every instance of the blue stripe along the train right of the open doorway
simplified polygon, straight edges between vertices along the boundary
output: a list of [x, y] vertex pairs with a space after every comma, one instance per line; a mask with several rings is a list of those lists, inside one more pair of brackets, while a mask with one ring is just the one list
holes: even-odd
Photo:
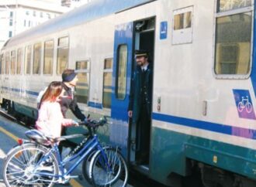
[[199, 128], [206, 131], [213, 131], [221, 134], [228, 134], [242, 138], [256, 139], [256, 130], [248, 128], [237, 128], [225, 124], [216, 124], [207, 121], [198, 121], [185, 117], [175, 117], [166, 114], [153, 113], [152, 118], [157, 121], [164, 121], [172, 124], [179, 124], [189, 128]]

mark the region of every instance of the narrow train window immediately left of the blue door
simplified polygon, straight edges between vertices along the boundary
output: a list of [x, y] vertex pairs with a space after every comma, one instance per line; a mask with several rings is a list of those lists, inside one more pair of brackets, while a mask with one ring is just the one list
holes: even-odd
[[107, 108], [111, 107], [112, 61], [112, 58], [104, 60], [102, 105]]

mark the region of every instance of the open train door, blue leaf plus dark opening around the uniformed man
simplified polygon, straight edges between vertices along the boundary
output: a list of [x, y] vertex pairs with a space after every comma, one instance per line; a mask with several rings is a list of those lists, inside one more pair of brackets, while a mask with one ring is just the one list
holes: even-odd
[[[146, 165], [140, 165], [137, 162], [139, 138], [137, 137], [136, 124], [128, 124], [127, 109], [131, 86], [130, 80], [133, 74], [133, 67], [137, 65], [133, 58], [133, 49], [146, 49], [150, 54], [150, 63], [154, 63], [154, 30], [154, 17], [116, 26], [112, 73], [111, 117], [115, 122], [112, 125], [109, 137], [112, 139], [112, 143], [125, 145], [123, 147], [126, 147], [127, 152], [124, 154], [128, 156], [128, 162], [135, 167], [139, 166], [146, 172], [149, 170], [149, 162]], [[148, 128], [150, 128], [150, 124]], [[125, 143], [123, 143], [124, 139], [126, 140]], [[147, 146], [150, 147], [150, 141], [148, 141]], [[150, 154], [147, 156], [149, 160]]]

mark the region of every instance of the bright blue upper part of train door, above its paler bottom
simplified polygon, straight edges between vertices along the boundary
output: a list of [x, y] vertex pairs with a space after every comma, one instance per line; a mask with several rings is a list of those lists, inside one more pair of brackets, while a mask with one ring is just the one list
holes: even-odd
[[111, 117], [116, 121], [127, 122], [133, 62], [133, 22], [116, 26], [114, 41]]

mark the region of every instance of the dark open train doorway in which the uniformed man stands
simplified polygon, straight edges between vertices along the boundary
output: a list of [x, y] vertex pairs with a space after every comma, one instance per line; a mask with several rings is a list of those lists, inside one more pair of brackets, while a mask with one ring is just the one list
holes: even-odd
[[[154, 38], [155, 38], [155, 18], [144, 19], [133, 23], [134, 49], [145, 50], [148, 53], [148, 62], [150, 69], [154, 69]], [[137, 68], [137, 60], [133, 58], [133, 72]], [[133, 73], [132, 73], [133, 74]], [[148, 90], [150, 103], [152, 103], [153, 93], [153, 74], [149, 81], [151, 86]], [[133, 85], [131, 85], [132, 89]], [[139, 120], [137, 123], [130, 120], [130, 163], [136, 168], [149, 171], [150, 165], [150, 130], [151, 130], [151, 112], [148, 114], [147, 125]], [[141, 115], [140, 115], [141, 116]], [[143, 127], [143, 128], [141, 128]]]

